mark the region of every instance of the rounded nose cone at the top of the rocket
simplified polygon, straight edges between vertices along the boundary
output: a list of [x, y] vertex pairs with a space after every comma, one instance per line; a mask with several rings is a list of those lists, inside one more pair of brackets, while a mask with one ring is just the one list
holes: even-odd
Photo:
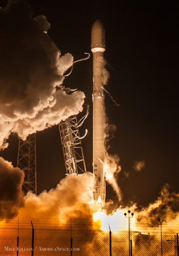
[[105, 29], [100, 20], [96, 20], [91, 29], [91, 49], [95, 48], [101, 52], [106, 48]]

